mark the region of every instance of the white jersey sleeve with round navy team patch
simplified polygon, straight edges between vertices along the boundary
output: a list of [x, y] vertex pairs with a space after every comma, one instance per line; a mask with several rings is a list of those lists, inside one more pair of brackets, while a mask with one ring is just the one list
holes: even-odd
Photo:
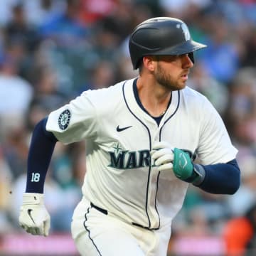
[[63, 144], [79, 142], [97, 134], [97, 113], [90, 100], [90, 91], [71, 100], [69, 104], [50, 112], [46, 130], [53, 132]]

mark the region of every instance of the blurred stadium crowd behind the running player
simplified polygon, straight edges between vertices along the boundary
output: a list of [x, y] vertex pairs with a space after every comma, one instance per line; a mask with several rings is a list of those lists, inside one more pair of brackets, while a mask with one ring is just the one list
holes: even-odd
[[188, 86], [206, 95], [239, 149], [233, 196], [190, 186], [169, 255], [256, 255], [256, 1], [1, 0], [0, 255], [77, 255], [70, 220], [85, 175], [85, 144], [56, 145], [48, 171], [50, 237], [18, 227], [35, 124], [84, 90], [134, 78], [127, 40], [146, 18], [186, 21], [195, 55]]

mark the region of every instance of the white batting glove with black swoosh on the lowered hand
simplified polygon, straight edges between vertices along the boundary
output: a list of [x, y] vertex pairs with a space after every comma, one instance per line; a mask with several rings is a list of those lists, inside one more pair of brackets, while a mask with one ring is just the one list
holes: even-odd
[[48, 236], [50, 215], [44, 206], [43, 194], [23, 193], [18, 223], [27, 233]]

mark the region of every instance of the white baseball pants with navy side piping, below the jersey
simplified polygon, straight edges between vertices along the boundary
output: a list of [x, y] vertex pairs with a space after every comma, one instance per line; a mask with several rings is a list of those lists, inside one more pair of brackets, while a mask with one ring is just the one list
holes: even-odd
[[169, 225], [159, 230], [130, 225], [100, 213], [85, 198], [75, 209], [71, 230], [82, 256], [166, 255], [171, 235]]

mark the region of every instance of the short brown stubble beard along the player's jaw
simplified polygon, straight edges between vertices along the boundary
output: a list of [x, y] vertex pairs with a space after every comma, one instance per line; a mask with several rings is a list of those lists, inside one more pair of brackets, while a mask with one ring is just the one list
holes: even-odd
[[171, 78], [171, 75], [166, 73], [159, 63], [157, 65], [155, 78], [159, 85], [162, 85], [171, 91], [181, 90], [186, 86], [186, 82], [179, 82], [177, 79]]

